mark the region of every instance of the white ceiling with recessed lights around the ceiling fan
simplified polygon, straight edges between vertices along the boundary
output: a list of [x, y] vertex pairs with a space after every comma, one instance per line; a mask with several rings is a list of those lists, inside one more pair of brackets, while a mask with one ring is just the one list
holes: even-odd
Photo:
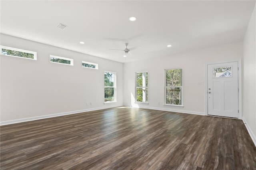
[[[1, 1], [1, 32], [125, 63], [242, 41], [254, 4], [254, 0]], [[131, 16], [137, 20], [129, 21]], [[68, 27], [59, 30], [59, 23]], [[126, 60], [124, 51], [109, 50], [124, 49], [126, 42], [128, 48], [141, 46]]]

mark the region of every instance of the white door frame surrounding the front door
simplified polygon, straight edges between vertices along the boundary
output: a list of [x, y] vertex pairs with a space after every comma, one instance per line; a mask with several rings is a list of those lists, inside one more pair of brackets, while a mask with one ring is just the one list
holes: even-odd
[[[220, 63], [230, 63], [238, 62], [238, 119], [242, 119], [242, 59], [233, 60], [233, 61], [222, 61], [222, 62], [213, 62], [205, 64], [205, 115], [208, 116], [208, 65], [210, 64], [220, 64]], [[234, 118], [236, 119], [236, 118]]]

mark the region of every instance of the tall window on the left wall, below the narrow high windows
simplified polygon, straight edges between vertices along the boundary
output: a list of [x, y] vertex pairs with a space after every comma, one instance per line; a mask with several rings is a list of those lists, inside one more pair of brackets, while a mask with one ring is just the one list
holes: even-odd
[[105, 71], [105, 103], [116, 101], [116, 73]]

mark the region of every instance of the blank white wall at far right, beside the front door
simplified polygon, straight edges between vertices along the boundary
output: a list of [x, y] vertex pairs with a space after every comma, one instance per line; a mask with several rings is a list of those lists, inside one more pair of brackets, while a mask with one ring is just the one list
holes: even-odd
[[255, 8], [244, 36], [243, 118], [256, 139], [256, 14]]

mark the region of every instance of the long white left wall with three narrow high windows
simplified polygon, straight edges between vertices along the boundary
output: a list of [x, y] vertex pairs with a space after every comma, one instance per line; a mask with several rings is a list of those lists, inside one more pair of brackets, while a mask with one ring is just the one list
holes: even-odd
[[[4, 34], [1, 45], [37, 52], [37, 60], [1, 55], [1, 122], [123, 105], [123, 63]], [[50, 63], [50, 54], [72, 58], [74, 66]], [[116, 72], [116, 103], [104, 105], [104, 71]]]

